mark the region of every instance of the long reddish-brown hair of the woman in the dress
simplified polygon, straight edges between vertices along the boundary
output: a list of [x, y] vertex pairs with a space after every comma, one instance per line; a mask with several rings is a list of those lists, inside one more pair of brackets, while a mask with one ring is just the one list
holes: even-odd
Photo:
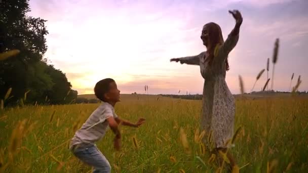
[[[206, 26], [208, 29], [207, 31], [210, 39], [210, 45], [207, 48], [207, 52], [209, 54], [209, 64], [211, 65], [215, 57], [214, 52], [217, 44], [220, 46], [223, 45], [223, 37], [221, 33], [221, 28], [218, 24], [210, 22], [205, 24], [204, 26]], [[229, 70], [228, 58], [226, 58], [225, 60], [225, 69], [226, 71]]]

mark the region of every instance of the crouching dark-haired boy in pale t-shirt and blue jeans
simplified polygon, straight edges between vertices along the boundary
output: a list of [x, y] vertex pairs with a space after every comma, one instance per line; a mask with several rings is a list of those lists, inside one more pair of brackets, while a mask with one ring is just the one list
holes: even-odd
[[87, 119], [83, 126], [76, 131], [70, 142], [70, 150], [81, 161], [94, 167], [93, 172], [111, 172], [111, 166], [105, 156], [94, 144], [100, 140], [107, 130], [112, 129], [115, 137], [113, 145], [116, 150], [121, 149], [121, 134], [118, 125], [138, 127], [144, 123], [140, 118], [136, 124], [120, 119], [114, 112], [114, 105], [120, 102], [120, 91], [111, 78], [100, 80], [94, 88], [95, 96], [103, 102]]

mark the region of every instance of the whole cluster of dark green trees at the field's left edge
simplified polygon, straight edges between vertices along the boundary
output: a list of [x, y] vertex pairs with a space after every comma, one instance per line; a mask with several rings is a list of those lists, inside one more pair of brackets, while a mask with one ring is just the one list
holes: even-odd
[[47, 51], [46, 20], [27, 15], [28, 0], [0, 1], [0, 12], [0, 53], [20, 51], [0, 61], [0, 99], [10, 91], [4, 104], [74, 102], [78, 92], [71, 90], [65, 73], [43, 58]]

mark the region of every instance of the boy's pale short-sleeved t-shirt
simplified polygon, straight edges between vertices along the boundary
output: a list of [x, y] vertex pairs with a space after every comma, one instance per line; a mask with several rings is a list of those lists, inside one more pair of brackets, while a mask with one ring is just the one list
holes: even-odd
[[87, 119], [82, 127], [76, 131], [71, 139], [70, 147], [76, 144], [94, 144], [104, 137], [108, 122], [106, 119], [110, 116], [117, 118], [114, 108], [107, 102], [103, 102]]

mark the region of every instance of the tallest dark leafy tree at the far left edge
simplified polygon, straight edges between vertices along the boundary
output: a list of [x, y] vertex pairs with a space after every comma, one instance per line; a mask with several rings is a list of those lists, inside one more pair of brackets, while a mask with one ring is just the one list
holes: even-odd
[[46, 20], [27, 16], [27, 0], [0, 1], [0, 52], [18, 49], [20, 54], [0, 62], [0, 97], [12, 88], [12, 100], [28, 88], [28, 68], [42, 60], [47, 50]]

